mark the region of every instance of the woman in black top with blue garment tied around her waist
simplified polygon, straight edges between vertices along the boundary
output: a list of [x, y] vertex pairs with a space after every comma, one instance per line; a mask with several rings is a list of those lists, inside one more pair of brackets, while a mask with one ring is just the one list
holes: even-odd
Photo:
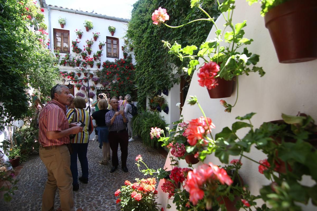
[[[99, 147], [102, 148], [102, 160], [100, 164], [107, 165], [110, 160], [110, 145], [108, 141], [108, 126], [106, 125], [106, 113], [109, 111], [108, 102], [106, 99], [100, 99], [98, 102], [99, 111], [92, 114], [93, 119], [96, 121], [96, 130], [98, 133]], [[102, 146], [102, 147], [101, 147]]]

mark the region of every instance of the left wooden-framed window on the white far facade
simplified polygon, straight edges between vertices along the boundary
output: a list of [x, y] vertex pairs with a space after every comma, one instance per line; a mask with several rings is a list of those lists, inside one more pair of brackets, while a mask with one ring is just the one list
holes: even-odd
[[69, 53], [69, 31], [62, 29], [53, 29], [54, 49], [60, 53]]

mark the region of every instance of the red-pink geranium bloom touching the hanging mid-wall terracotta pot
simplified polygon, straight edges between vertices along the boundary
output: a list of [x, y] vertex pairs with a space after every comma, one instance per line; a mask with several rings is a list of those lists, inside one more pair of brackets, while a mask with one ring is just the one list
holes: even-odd
[[215, 88], [218, 85], [217, 80], [215, 79], [218, 71], [219, 66], [216, 62], [210, 61], [205, 63], [205, 65], [200, 68], [198, 73], [198, 77], [200, 78], [198, 80], [199, 85], [206, 86], [209, 90]]

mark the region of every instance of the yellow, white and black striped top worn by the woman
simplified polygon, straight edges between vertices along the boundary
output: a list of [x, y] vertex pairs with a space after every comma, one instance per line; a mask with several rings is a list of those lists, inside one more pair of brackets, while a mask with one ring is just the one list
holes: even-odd
[[68, 123], [82, 121], [85, 126], [80, 133], [75, 135], [74, 139], [70, 140], [73, 144], [86, 144], [89, 141], [89, 131], [93, 131], [93, 122], [90, 118], [89, 112], [85, 109], [69, 109], [67, 112]]

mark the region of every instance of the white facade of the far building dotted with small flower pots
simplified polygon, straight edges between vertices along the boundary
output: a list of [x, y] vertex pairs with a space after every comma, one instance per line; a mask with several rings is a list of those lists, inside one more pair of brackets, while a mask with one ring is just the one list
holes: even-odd
[[[53, 29], [62, 29], [62, 30], [69, 30], [69, 45], [70, 45], [70, 54], [71, 57], [75, 57], [76, 54], [72, 52], [72, 40], [76, 40], [78, 39], [78, 41], [80, 41], [80, 43], [77, 44], [78, 47], [80, 47], [82, 50], [84, 49], [84, 45], [86, 44], [86, 40], [90, 40], [93, 39], [93, 32], [100, 32], [100, 36], [97, 38], [97, 41], [94, 41], [94, 44], [91, 46], [92, 48], [92, 52], [90, 55], [87, 54], [87, 56], [93, 57], [93, 54], [95, 52], [97, 52], [99, 49], [99, 42], [103, 41], [106, 42], [106, 38], [108, 37], [115, 37], [119, 39], [119, 45], [118, 45], [118, 50], [119, 50], [119, 59], [123, 59], [123, 51], [121, 49], [121, 46], [124, 46], [124, 39], [123, 36], [126, 34], [126, 29], [127, 29], [127, 22], [120, 22], [120, 21], [116, 21], [116, 20], [108, 20], [108, 19], [103, 19], [103, 18], [98, 18], [98, 17], [92, 17], [92, 16], [86, 16], [86, 15], [81, 15], [81, 14], [74, 14], [74, 13], [70, 13], [70, 12], [64, 12], [64, 11], [59, 11], [59, 10], [55, 10], [55, 9], [44, 9], [44, 14], [45, 14], [45, 20], [44, 23], [49, 27], [46, 32], [49, 33], [49, 39], [51, 41], [50, 47], [53, 49], [54, 48], [54, 37], [53, 37]], [[90, 15], [91, 13], [87, 13], [88, 15]], [[66, 18], [66, 25], [64, 25], [64, 28], [61, 28], [60, 24], [58, 23], [58, 19], [59, 17], [62, 18]], [[49, 21], [50, 20], [50, 21]], [[85, 20], [91, 20], [94, 24], [94, 28], [89, 30], [88, 32], [86, 32], [86, 28], [84, 27], [84, 21]], [[49, 23], [50, 22], [50, 23]], [[114, 26], [116, 28], [116, 32], [114, 33], [113, 36], [111, 36], [111, 33], [108, 30], [108, 26]], [[81, 39], [78, 38], [77, 34], [75, 34], [75, 30], [76, 29], [81, 29], [84, 34], [82, 35]], [[106, 44], [107, 45], [107, 44]], [[100, 62], [101, 62], [101, 67], [102, 68], [102, 62], [109, 60], [109, 61], [114, 61], [114, 58], [108, 58], [107, 57], [107, 49], [106, 46], [102, 47], [103, 52], [102, 52], [102, 56], [100, 58]], [[63, 58], [65, 55], [65, 53], [61, 53], [60, 56], [60, 60], [61, 58]], [[81, 57], [81, 56], [80, 56]], [[133, 63], [134, 63], [134, 55], [132, 52], [132, 57], [133, 57]], [[82, 59], [82, 58], [81, 58]], [[69, 66], [59, 66], [60, 71], [74, 71], [76, 73], [76, 69], [78, 69], [79, 67], [69, 67]], [[90, 68], [89, 65], [87, 65], [87, 70], [89, 70], [89, 72], [92, 72], [94, 74], [94, 72], [97, 70], [97, 65], [96, 65], [96, 61], [94, 62], [94, 66], [93, 68]], [[88, 75], [89, 76], [89, 75]], [[84, 75], [81, 74], [81, 77], [79, 78], [83, 78]], [[95, 74], [94, 74], [94, 77]], [[87, 77], [89, 78], [89, 77]], [[62, 77], [60, 78], [60, 80], [57, 82], [59, 84], [62, 84], [61, 82]], [[68, 79], [65, 78], [65, 80], [67, 81]], [[68, 82], [65, 82], [65, 84], [68, 84]], [[71, 83], [74, 84], [74, 83]], [[87, 85], [87, 83], [83, 82], [84, 85]], [[94, 82], [89, 80], [89, 85], [93, 85]], [[97, 85], [95, 85], [96, 87], [103, 87], [101, 83], [98, 83]], [[92, 91], [89, 90], [90, 92], [94, 92], [96, 94], [96, 90]], [[74, 87], [74, 94], [76, 94], [77, 92], [82, 92], [84, 93], [82, 90], [77, 90]], [[127, 93], [128, 94], [128, 93]], [[93, 98], [94, 100], [96, 99], [96, 96], [94, 96]]]

